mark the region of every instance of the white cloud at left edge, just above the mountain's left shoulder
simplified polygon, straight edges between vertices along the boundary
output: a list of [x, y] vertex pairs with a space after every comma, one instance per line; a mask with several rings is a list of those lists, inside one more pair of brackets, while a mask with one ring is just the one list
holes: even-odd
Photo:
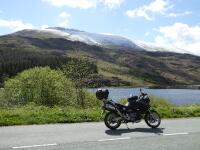
[[0, 19], [0, 27], [9, 28], [13, 31], [35, 28], [34, 25], [30, 23], [25, 23], [21, 20], [3, 20], [3, 19]]

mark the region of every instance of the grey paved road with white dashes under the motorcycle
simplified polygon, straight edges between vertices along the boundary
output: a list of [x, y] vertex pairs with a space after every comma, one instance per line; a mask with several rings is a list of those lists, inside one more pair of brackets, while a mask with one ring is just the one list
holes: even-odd
[[0, 149], [24, 150], [200, 150], [200, 118], [144, 122], [108, 130], [103, 123], [0, 128]]

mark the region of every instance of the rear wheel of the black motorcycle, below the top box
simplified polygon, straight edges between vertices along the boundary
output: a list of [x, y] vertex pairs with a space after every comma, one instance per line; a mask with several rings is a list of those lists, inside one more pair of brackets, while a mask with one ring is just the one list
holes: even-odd
[[104, 123], [109, 129], [116, 130], [121, 125], [121, 120], [119, 117], [120, 116], [114, 112], [108, 112], [105, 115]]

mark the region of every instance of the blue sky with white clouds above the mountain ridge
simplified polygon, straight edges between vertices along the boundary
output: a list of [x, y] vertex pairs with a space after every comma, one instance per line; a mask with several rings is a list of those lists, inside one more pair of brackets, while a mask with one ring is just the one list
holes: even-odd
[[0, 35], [65, 27], [200, 55], [200, 0], [1, 0]]

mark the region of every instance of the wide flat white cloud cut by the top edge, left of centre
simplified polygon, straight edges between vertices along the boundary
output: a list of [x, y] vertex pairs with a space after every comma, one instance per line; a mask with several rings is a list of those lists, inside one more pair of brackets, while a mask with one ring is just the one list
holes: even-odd
[[42, 0], [44, 2], [49, 2], [54, 6], [62, 7], [68, 6], [72, 8], [95, 8], [97, 5], [97, 0]]

